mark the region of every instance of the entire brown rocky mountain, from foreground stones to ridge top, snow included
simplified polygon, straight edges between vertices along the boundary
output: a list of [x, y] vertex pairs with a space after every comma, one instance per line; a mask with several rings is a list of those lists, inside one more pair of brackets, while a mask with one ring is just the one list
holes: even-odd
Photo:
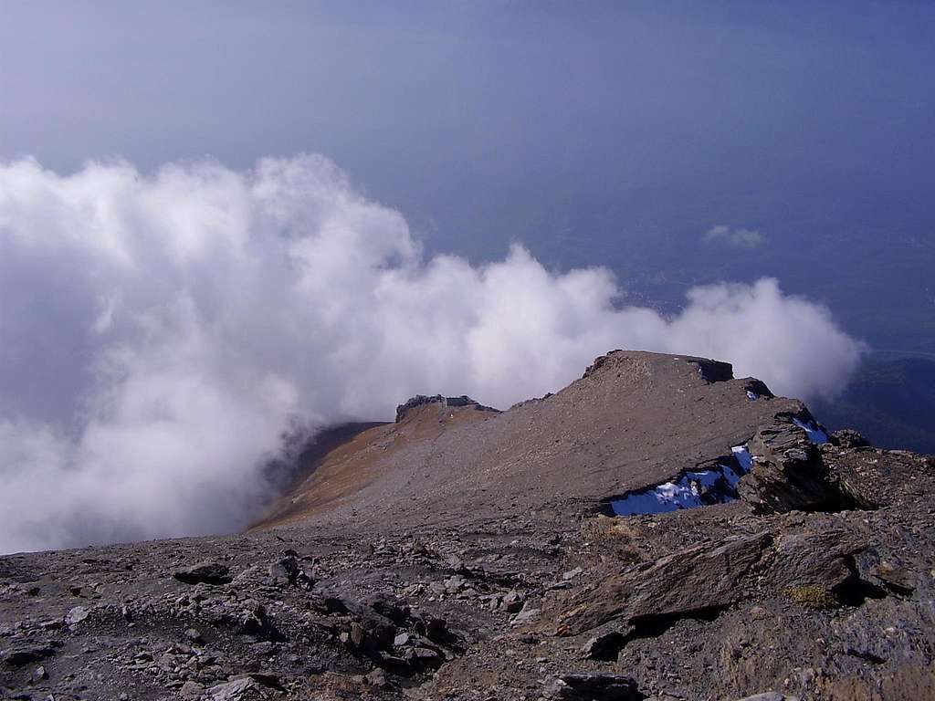
[[0, 558], [0, 696], [935, 698], [935, 460], [725, 363], [414, 397], [296, 469], [241, 535]]

